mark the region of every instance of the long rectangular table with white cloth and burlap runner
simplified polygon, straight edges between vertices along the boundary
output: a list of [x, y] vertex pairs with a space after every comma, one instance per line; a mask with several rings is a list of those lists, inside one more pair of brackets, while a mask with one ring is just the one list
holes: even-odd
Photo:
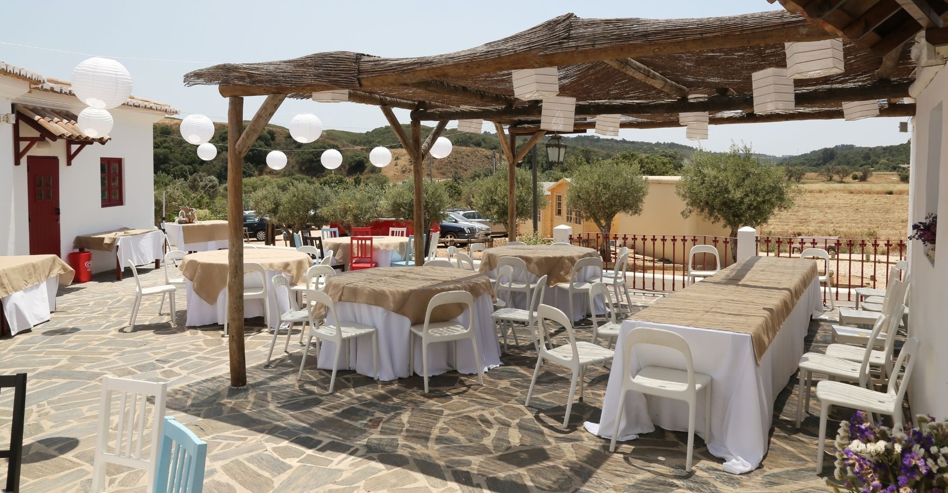
[[[712, 378], [710, 436], [703, 420], [695, 432], [724, 459], [724, 470], [754, 470], [767, 453], [775, 397], [796, 372], [811, 315], [822, 313], [812, 260], [751, 257], [679, 291], [623, 322], [616, 343], [600, 423], [586, 429], [612, 437], [622, 379], [647, 365], [685, 369], [681, 354], [659, 346], [636, 346], [626, 361], [623, 344], [639, 326], [681, 334], [696, 372]], [[699, 399], [696, 415], [704, 414]], [[629, 392], [618, 439], [638, 433], [687, 431], [682, 401]]]

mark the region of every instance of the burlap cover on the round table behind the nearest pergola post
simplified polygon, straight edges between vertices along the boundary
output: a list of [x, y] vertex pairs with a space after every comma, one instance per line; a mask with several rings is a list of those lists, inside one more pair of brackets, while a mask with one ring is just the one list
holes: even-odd
[[[245, 249], [244, 261], [264, 266], [267, 271], [289, 274], [290, 283], [302, 281], [306, 270], [313, 265], [309, 255], [295, 250]], [[194, 292], [210, 305], [217, 303], [217, 296], [228, 285], [228, 251], [213, 250], [189, 254], [179, 264], [181, 273], [191, 280]], [[269, 282], [269, 279], [267, 279]]]

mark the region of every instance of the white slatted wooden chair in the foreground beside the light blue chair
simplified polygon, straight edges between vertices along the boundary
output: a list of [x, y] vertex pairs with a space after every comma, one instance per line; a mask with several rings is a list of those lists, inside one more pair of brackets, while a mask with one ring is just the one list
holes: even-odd
[[[113, 419], [113, 402], [116, 400], [113, 393], [118, 393], [114, 439], [110, 425]], [[93, 492], [101, 493], [105, 490], [106, 466], [115, 464], [148, 471], [147, 491], [153, 493], [158, 453], [161, 451], [167, 393], [168, 383], [163, 381], [102, 377], [96, 449], [92, 465]], [[149, 396], [154, 397], [154, 404], [149, 405]], [[150, 440], [146, 441], [146, 438]], [[147, 455], [142, 453], [142, 449], [146, 447]]]

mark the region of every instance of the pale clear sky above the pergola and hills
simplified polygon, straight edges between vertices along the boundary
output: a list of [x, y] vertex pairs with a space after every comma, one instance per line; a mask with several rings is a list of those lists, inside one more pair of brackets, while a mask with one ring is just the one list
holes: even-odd
[[[7, 21], [0, 30], [0, 62], [47, 77], [69, 79], [76, 64], [87, 57], [10, 44], [117, 58], [131, 72], [136, 96], [169, 102], [182, 115], [207, 114], [217, 121], [226, 121], [225, 98], [217, 93], [216, 87], [185, 87], [185, 73], [219, 62], [283, 60], [332, 50], [387, 57], [446, 53], [508, 36], [567, 12], [586, 18], [677, 18], [775, 9], [766, 0], [481, 0], [434, 4], [391, 0], [101, 0], [49, 4], [42, 8], [33, 3], [4, 0], [0, 5], [0, 18]], [[263, 99], [246, 98], [246, 118]], [[307, 112], [319, 116], [329, 129], [367, 132], [386, 124], [374, 106], [311, 100], [287, 100], [272, 122], [285, 126], [295, 114]], [[405, 122], [407, 113], [396, 110]], [[906, 119], [720, 125], [712, 126], [710, 138], [700, 142], [707, 150], [726, 150], [732, 141], [746, 142], [757, 152], [775, 155], [837, 144], [900, 144], [908, 140], [908, 134], [898, 132], [897, 122]], [[620, 137], [696, 145], [684, 138], [684, 129], [629, 129], [623, 130]]]

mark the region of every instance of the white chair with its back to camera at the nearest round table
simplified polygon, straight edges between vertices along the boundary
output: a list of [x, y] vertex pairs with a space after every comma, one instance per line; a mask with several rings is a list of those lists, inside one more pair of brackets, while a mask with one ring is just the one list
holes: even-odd
[[[431, 311], [442, 305], [460, 304], [467, 307], [467, 324], [457, 319], [447, 322], [431, 322]], [[425, 323], [411, 326], [409, 332], [409, 374], [414, 373], [414, 337], [421, 338], [422, 376], [425, 378], [425, 394], [428, 394], [428, 344], [454, 344], [454, 367], [458, 366], [458, 341], [469, 339], [474, 348], [474, 362], [477, 364], [477, 381], [483, 385], [483, 366], [481, 352], [477, 348], [477, 334], [474, 332], [477, 312], [474, 310], [474, 296], [468, 291], [445, 291], [431, 297], [428, 310], [425, 311]]]

